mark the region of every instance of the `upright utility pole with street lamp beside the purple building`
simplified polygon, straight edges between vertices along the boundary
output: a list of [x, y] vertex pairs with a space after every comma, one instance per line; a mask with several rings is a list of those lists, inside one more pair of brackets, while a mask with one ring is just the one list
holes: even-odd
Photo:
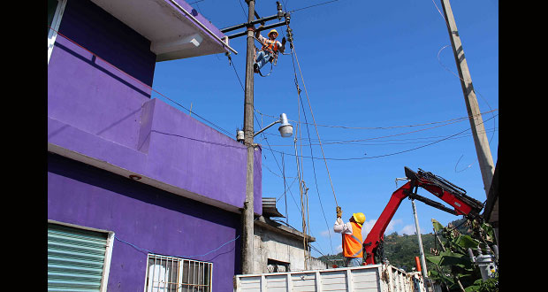
[[[255, 17], [255, 0], [247, 0], [249, 10], [247, 22], [253, 21]], [[255, 63], [255, 31], [247, 27], [247, 55], [246, 55], [246, 88], [244, 100], [244, 144], [247, 146], [247, 174], [246, 174], [246, 201], [242, 214], [242, 246], [241, 246], [241, 272], [253, 272], [253, 217], [254, 217], [254, 193], [253, 193], [253, 165], [255, 147], [253, 145], [253, 85]]]

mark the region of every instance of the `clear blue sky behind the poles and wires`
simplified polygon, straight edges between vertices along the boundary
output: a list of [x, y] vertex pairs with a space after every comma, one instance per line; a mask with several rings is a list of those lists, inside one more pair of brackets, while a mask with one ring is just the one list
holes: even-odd
[[[293, 58], [280, 55], [268, 77], [255, 74], [255, 132], [278, 119], [281, 112], [293, 124], [297, 152], [304, 157], [300, 167], [308, 188], [308, 226], [316, 237], [312, 243], [316, 250], [323, 254], [340, 251], [340, 235], [332, 232], [335, 198], [343, 219], [353, 212], [365, 213], [365, 237], [392, 192], [404, 183], [396, 186], [394, 181], [405, 176], [404, 166], [438, 174], [464, 188], [468, 196], [485, 201], [470, 131], [448, 138], [470, 125], [468, 119], [460, 119], [468, 114], [445, 20], [438, 12], [440, 1], [324, 2], [281, 1], [285, 11], [295, 11], [290, 23]], [[322, 5], [300, 10], [315, 4]], [[496, 163], [499, 1], [453, 0], [451, 5], [480, 111], [487, 112], [483, 120]], [[247, 21], [244, 0], [203, 0], [192, 6], [219, 28]], [[257, 0], [255, 10], [261, 17], [276, 14], [276, 1]], [[277, 28], [280, 41], [285, 28]], [[157, 63], [153, 88], [186, 109], [192, 104], [194, 113], [235, 138], [236, 130], [243, 127], [240, 82], [245, 81], [246, 39], [235, 38], [230, 44], [238, 51], [232, 54], [234, 67], [224, 54]], [[256, 41], [255, 46], [259, 46]], [[269, 71], [266, 65], [263, 73]], [[163, 96], [153, 97], [187, 112]], [[301, 230], [298, 183], [289, 188], [297, 176], [294, 136], [281, 138], [276, 128], [255, 137], [263, 146], [263, 196], [277, 197], [278, 210], [288, 215], [289, 225]], [[316, 158], [314, 164], [311, 156]], [[418, 194], [441, 202], [424, 189]], [[460, 219], [421, 202], [416, 202], [416, 208], [422, 233], [432, 231], [430, 219], [443, 225]], [[386, 234], [392, 232], [415, 233], [407, 199]], [[316, 250], [312, 254], [319, 257]]]

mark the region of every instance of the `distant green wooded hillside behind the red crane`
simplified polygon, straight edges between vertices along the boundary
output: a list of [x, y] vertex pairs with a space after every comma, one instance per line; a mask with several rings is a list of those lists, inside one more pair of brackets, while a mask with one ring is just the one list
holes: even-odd
[[[464, 219], [458, 219], [451, 222], [453, 226], [458, 227]], [[467, 228], [461, 226], [458, 228], [460, 233], [467, 234]], [[422, 247], [424, 249], [425, 256], [430, 255], [430, 248], [435, 248], [435, 237], [434, 234], [422, 234]], [[439, 244], [438, 244], [439, 248]], [[419, 257], [419, 244], [417, 241], [416, 234], [413, 235], [399, 235], [396, 232], [386, 235], [384, 234], [384, 252], [390, 264], [399, 267], [406, 272], [412, 272], [415, 268], [415, 257]], [[337, 261], [338, 265], [341, 265], [341, 260], [343, 258], [342, 252], [337, 255], [327, 255], [318, 257], [323, 262], [327, 263], [329, 266], [333, 262]], [[427, 269], [433, 268], [430, 267], [430, 263], [426, 264]]]

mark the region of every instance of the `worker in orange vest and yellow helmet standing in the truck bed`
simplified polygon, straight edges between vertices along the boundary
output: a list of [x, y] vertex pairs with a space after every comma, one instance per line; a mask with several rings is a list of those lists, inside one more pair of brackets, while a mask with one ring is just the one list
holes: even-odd
[[337, 206], [337, 221], [333, 231], [342, 234], [343, 256], [346, 257], [345, 266], [360, 266], [363, 264], [362, 225], [365, 222], [365, 215], [354, 213], [346, 223], [340, 219], [341, 215], [342, 211]]

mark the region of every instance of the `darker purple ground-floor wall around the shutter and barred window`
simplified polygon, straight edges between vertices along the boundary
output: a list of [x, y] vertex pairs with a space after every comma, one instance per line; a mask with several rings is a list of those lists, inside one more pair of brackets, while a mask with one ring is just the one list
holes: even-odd
[[[147, 252], [213, 263], [213, 290], [232, 291], [240, 273], [238, 214], [93, 166], [48, 155], [48, 219], [114, 232], [108, 291], [142, 291]], [[216, 250], [223, 243], [225, 246]], [[187, 257], [203, 255], [202, 257]]]

